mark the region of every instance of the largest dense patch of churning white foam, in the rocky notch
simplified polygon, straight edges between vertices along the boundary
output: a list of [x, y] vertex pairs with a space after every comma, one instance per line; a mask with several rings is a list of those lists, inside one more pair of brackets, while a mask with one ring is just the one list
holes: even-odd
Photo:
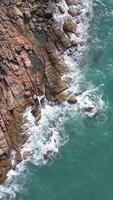
[[24, 151], [31, 151], [33, 155], [30, 159], [35, 165], [45, 164], [44, 155], [49, 151], [51, 154], [58, 152], [62, 142], [67, 141], [67, 137], [63, 138], [59, 135], [60, 124], [63, 116], [59, 106], [45, 105], [41, 110], [42, 116], [39, 124], [36, 125], [35, 118], [31, 113], [31, 107], [26, 110], [25, 117], [30, 120], [26, 125], [31, 133], [28, 141], [23, 145], [22, 153]]

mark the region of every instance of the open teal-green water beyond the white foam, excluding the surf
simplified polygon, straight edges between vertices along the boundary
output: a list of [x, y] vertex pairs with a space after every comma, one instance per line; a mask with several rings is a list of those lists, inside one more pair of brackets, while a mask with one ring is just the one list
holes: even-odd
[[67, 117], [69, 142], [46, 166], [28, 164], [16, 200], [113, 200], [113, 1], [93, 1], [82, 73], [101, 88], [106, 109], [94, 118]]

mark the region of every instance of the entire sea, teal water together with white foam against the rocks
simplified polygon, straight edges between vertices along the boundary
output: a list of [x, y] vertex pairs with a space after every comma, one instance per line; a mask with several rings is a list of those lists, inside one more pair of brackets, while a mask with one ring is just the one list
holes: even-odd
[[[85, 48], [65, 55], [78, 103], [47, 104], [38, 127], [27, 110], [35, 154], [0, 186], [1, 200], [113, 200], [113, 1], [85, 3]], [[47, 163], [44, 148], [54, 152]]]

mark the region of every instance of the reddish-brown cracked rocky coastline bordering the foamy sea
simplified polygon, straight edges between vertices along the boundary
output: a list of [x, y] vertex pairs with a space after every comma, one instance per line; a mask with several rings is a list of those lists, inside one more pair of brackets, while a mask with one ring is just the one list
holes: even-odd
[[78, 37], [79, 20], [73, 18], [80, 14], [81, 2], [65, 1], [69, 15], [61, 26], [54, 18], [55, 12], [65, 15], [59, 0], [0, 1], [0, 183], [29, 156], [20, 152], [29, 137], [23, 126], [26, 108], [32, 107], [38, 123], [45, 99], [53, 106], [77, 102], [63, 78], [68, 72], [63, 53], [77, 51], [77, 41], [71, 36]]

